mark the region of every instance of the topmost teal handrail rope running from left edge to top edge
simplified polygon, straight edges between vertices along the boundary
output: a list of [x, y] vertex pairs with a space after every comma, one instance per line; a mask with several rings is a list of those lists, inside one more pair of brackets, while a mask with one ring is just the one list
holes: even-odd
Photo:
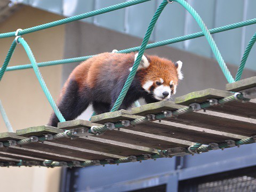
[[[110, 12], [110, 11], [115, 11], [115, 10], [118, 10], [118, 9], [122, 9], [124, 7], [128, 7], [128, 6], [131, 6], [131, 5], [136, 5], [136, 4], [147, 2], [147, 1], [151, 1], [151, 0], [132, 0], [132, 1], [124, 2], [124, 3], [119, 3], [119, 4], [116, 4], [116, 5], [104, 7], [104, 8], [99, 9], [99, 10], [90, 11], [90, 12], [87, 12], [87, 13], [75, 15], [73, 17], [69, 17], [69, 18], [58, 20], [58, 21], [45, 23], [43, 25], [23, 29], [23, 30], [19, 31], [18, 35], [25, 35], [25, 34], [32, 33], [32, 32], [38, 31], [38, 30], [59, 26], [59, 25], [69, 23], [69, 22], [72, 22], [72, 21], [77, 21], [77, 20], [80, 20], [80, 19], [89, 18], [89, 17], [95, 16], [95, 15], [99, 15], [99, 14], [102, 14], [102, 13], [107, 13], [107, 12]], [[14, 36], [15, 36], [15, 31], [0, 34], [0, 38], [14, 37]]]

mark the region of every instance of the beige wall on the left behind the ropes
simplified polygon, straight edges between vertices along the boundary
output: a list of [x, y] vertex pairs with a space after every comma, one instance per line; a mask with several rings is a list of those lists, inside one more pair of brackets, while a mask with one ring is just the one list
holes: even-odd
[[[0, 33], [59, 19], [62, 17], [25, 6], [1, 23]], [[62, 59], [64, 29], [65, 26], [58, 26], [23, 36], [38, 62]], [[13, 39], [0, 39], [1, 63], [4, 62]], [[22, 45], [17, 45], [10, 63], [11, 66], [30, 63]], [[60, 92], [61, 68], [61, 65], [40, 68], [55, 100]], [[0, 90], [0, 98], [14, 131], [47, 123], [52, 109], [33, 69], [6, 72], [0, 83]], [[0, 132], [5, 131], [5, 125], [0, 117]], [[58, 168], [0, 167], [1, 191], [58, 191], [59, 182], [60, 169]]]

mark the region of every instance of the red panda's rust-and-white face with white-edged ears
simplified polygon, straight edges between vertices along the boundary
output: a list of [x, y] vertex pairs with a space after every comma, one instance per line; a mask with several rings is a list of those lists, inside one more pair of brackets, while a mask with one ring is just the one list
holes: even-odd
[[[135, 60], [137, 56], [138, 53]], [[181, 67], [181, 61], [173, 63], [155, 55], [143, 55], [138, 67], [142, 88], [159, 101], [170, 99], [176, 93], [179, 79], [183, 79]]]

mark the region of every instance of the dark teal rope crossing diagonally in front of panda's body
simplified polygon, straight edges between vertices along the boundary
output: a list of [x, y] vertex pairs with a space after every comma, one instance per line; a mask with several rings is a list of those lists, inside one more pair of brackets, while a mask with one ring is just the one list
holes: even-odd
[[148, 43], [148, 40], [149, 40], [149, 37], [155, 27], [155, 24], [156, 24], [156, 21], [159, 17], [159, 15], [162, 13], [164, 7], [167, 5], [167, 1], [164, 0], [161, 5], [159, 5], [158, 9], [156, 10], [149, 26], [148, 26], [148, 29], [147, 29], [147, 32], [146, 32], [146, 35], [145, 37], [143, 38], [143, 41], [141, 43], [141, 46], [140, 46], [140, 49], [139, 49], [139, 54], [138, 54], [138, 57], [136, 59], [136, 61], [134, 62], [133, 64], [133, 67], [132, 67], [132, 70], [124, 84], [124, 87], [121, 91], [121, 93], [119, 94], [119, 97], [117, 98], [116, 102], [115, 102], [115, 105], [113, 106], [113, 108], [111, 109], [111, 111], [116, 111], [118, 110], [118, 108], [121, 106], [121, 103], [122, 101], [124, 100], [124, 97], [127, 93], [127, 91], [129, 90], [129, 87], [130, 85], [132, 84], [132, 80], [136, 74], [136, 71], [139, 67], [139, 64], [140, 64], [140, 61], [141, 61], [141, 58], [142, 58], [142, 55], [143, 53], [145, 52], [145, 49], [146, 49], [146, 45]]

